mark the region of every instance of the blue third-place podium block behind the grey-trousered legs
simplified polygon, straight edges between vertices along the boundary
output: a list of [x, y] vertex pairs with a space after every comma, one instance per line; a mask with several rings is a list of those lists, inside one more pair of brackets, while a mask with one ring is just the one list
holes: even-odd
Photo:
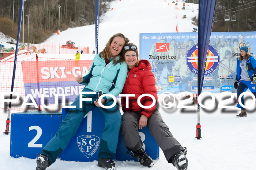
[[[158, 159], [159, 158], [159, 146], [157, 145], [157, 142], [155, 142], [155, 139], [151, 136], [150, 131], [148, 127], [143, 127], [142, 129], [139, 129], [139, 135], [140, 139], [143, 142], [143, 149], [144, 151], [152, 158], [152, 159]], [[127, 148], [124, 143], [124, 139], [121, 133], [121, 130], [119, 132], [119, 138], [118, 138], [118, 144], [117, 144], [117, 151], [116, 151], [116, 160], [117, 161], [138, 161], [134, 156], [131, 157], [130, 154], [126, 153]]]

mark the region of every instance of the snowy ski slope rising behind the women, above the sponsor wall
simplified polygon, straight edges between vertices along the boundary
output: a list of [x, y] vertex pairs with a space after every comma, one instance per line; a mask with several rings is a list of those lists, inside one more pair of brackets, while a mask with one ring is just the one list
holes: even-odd
[[[138, 46], [139, 33], [176, 32], [177, 24], [179, 32], [191, 32], [195, 27], [191, 18], [198, 15], [198, 4], [186, 4], [186, 10], [181, 10], [183, 0], [178, 0], [180, 10], [174, 9], [175, 5], [170, 0], [121, 0], [112, 3], [113, 10], [99, 20], [99, 52], [115, 33], [123, 33]], [[183, 15], [187, 18], [182, 19]], [[88, 46], [92, 52], [95, 50], [95, 25], [69, 28], [60, 35], [56, 33], [49, 37], [46, 42], [65, 43], [69, 39], [76, 45]]]

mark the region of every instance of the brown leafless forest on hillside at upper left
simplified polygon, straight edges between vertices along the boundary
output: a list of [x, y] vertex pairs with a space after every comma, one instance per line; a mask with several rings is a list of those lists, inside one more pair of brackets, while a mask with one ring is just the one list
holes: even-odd
[[[20, 0], [0, 0], [0, 4], [0, 32], [16, 39]], [[13, 4], [14, 23], [12, 23]], [[109, 4], [110, 0], [100, 0], [99, 15], [109, 10]], [[61, 6], [60, 31], [69, 27], [95, 24], [95, 0], [26, 0], [23, 7], [24, 37], [27, 37], [29, 20], [29, 43], [41, 43], [52, 33], [56, 33], [59, 28], [59, 5]], [[29, 19], [26, 15], [29, 15]], [[23, 27], [21, 27], [20, 38], [22, 38], [22, 31]], [[27, 38], [25, 39], [27, 42]]]

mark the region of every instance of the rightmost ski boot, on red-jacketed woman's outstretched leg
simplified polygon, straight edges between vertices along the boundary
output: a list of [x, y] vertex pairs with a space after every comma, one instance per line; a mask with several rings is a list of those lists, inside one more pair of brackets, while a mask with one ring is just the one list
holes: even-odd
[[185, 155], [187, 155], [186, 147], [171, 158], [173, 166], [175, 166], [178, 170], [188, 170], [188, 159]]

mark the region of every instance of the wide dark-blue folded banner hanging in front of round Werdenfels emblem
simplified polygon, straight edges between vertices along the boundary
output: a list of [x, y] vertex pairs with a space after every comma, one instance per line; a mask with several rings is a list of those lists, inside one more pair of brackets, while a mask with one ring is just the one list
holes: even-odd
[[209, 49], [212, 22], [214, 17], [216, 0], [199, 0], [198, 14], [198, 61], [197, 61], [197, 86], [198, 96], [203, 87], [204, 70], [206, 67], [207, 53]]

